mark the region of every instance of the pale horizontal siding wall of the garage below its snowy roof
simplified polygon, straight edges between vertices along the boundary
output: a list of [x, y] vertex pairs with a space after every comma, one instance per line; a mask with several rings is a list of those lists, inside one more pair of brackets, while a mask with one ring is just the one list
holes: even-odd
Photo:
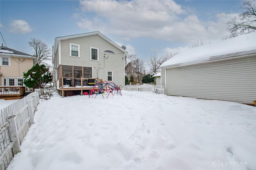
[[166, 69], [166, 82], [167, 95], [252, 104], [256, 100], [256, 56]]

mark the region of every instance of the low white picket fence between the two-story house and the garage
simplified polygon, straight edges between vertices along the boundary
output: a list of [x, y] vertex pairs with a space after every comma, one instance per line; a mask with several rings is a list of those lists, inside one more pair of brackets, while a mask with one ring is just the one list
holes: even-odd
[[152, 91], [156, 94], [165, 94], [165, 89], [163, 85], [150, 85], [150, 84], [143, 84], [143, 85], [125, 85], [121, 86], [122, 90], [127, 91]]

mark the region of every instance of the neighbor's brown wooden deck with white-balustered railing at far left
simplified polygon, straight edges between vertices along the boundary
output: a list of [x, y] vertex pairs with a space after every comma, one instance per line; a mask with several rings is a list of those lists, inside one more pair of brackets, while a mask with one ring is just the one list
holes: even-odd
[[24, 86], [0, 86], [0, 99], [22, 99], [25, 95]]

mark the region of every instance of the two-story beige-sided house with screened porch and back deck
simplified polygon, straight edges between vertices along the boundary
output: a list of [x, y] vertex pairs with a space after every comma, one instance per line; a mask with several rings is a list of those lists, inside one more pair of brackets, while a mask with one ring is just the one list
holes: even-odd
[[127, 51], [122, 47], [98, 31], [55, 38], [52, 63], [57, 89], [63, 95], [63, 91], [81, 87], [82, 94], [88, 90], [86, 86], [92, 83], [92, 78], [124, 85], [124, 54]]

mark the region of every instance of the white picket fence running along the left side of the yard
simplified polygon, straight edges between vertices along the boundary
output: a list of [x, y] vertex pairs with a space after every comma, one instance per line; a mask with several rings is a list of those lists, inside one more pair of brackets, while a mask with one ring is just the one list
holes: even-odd
[[5, 170], [14, 154], [20, 152], [20, 144], [39, 104], [37, 92], [30, 93], [1, 109], [0, 115], [0, 170]]

